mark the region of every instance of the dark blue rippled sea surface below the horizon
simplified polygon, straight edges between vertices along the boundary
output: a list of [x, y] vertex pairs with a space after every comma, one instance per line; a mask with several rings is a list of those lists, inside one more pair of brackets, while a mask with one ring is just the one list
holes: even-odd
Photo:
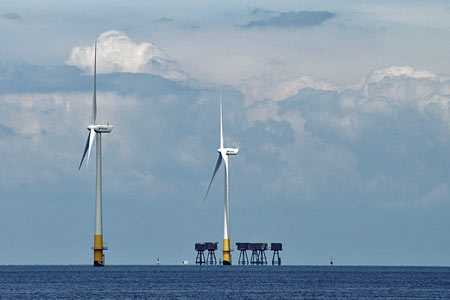
[[0, 299], [450, 299], [450, 268], [0, 266]]

